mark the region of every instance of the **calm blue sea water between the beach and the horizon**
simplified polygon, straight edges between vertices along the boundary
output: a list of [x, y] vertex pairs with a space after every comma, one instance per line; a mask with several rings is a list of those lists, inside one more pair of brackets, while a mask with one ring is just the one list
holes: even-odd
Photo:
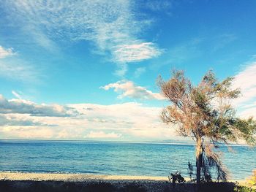
[[[230, 178], [243, 180], [256, 169], [256, 149], [233, 146], [223, 161]], [[166, 176], [195, 161], [195, 146], [124, 142], [0, 140], [0, 171], [72, 172]]]

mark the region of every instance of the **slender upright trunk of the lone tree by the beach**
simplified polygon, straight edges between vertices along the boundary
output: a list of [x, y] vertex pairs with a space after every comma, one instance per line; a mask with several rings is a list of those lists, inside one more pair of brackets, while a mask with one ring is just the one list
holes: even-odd
[[203, 158], [203, 142], [202, 138], [197, 138], [197, 145], [195, 151], [196, 157], [196, 166], [197, 166], [197, 190], [200, 185], [200, 177], [201, 177], [201, 167], [202, 167], [202, 158]]

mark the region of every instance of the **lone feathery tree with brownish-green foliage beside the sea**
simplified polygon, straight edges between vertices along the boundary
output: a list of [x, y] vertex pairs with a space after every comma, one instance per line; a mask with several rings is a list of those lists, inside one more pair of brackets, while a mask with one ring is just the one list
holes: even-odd
[[196, 181], [211, 178], [211, 168], [217, 171], [217, 180], [226, 180], [227, 172], [221, 155], [213, 148], [219, 142], [228, 145], [241, 139], [249, 145], [255, 144], [256, 123], [236, 117], [230, 101], [240, 96], [232, 89], [233, 77], [219, 82], [209, 71], [198, 85], [192, 85], [183, 71], [173, 71], [170, 80], [159, 77], [158, 84], [165, 98], [172, 105], [165, 107], [161, 118], [176, 128], [178, 134], [195, 141]]

